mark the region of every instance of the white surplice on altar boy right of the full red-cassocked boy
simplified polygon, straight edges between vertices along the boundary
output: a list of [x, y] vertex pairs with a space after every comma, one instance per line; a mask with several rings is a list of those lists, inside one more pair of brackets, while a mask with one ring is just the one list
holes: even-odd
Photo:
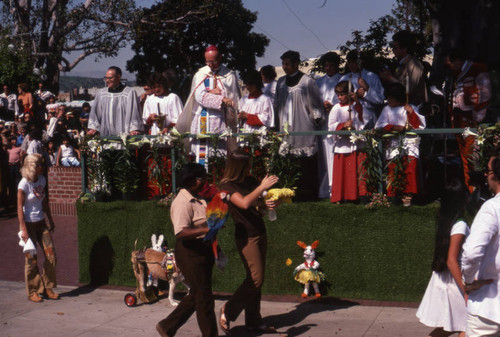
[[[425, 129], [425, 117], [418, 113], [417, 107], [413, 106], [413, 110], [418, 117], [420, 125], [418, 126], [418, 130]], [[387, 125], [398, 125], [405, 126], [407, 120], [407, 113], [403, 106], [397, 106], [391, 108], [386, 105], [380, 114], [380, 117], [375, 124], [376, 129], [384, 128]], [[401, 135], [395, 135], [394, 137], [389, 138], [389, 145], [385, 149], [385, 158], [387, 160], [391, 160], [394, 158], [397, 153], [395, 150], [398, 148], [399, 142], [401, 140]], [[420, 145], [420, 137], [419, 136], [406, 136], [403, 138], [403, 149], [410, 156], [415, 158], [419, 157], [419, 145]]]

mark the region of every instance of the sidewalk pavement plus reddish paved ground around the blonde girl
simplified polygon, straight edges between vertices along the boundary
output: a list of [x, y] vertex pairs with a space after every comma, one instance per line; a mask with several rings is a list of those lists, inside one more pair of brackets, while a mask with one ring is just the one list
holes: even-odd
[[[17, 219], [0, 214], [0, 336], [2, 337], [136, 337], [158, 336], [155, 325], [173, 310], [166, 298], [134, 307], [124, 304], [131, 288], [93, 288], [78, 283], [77, 221], [55, 217], [54, 242], [58, 256], [57, 301], [27, 300], [24, 257], [17, 246]], [[176, 293], [182, 298], [183, 293]], [[216, 296], [215, 309], [227, 300]], [[299, 296], [264, 296], [262, 315], [278, 334], [249, 333], [240, 315], [232, 322], [231, 336], [427, 336], [431, 328], [415, 317], [415, 303], [373, 302], [321, 298], [303, 301]], [[223, 336], [222, 330], [219, 330]], [[193, 315], [177, 335], [201, 336]]]

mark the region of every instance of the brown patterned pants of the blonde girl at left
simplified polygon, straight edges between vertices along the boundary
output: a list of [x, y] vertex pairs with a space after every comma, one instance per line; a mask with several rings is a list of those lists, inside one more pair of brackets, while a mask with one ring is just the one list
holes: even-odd
[[43, 271], [40, 275], [38, 270], [37, 255], [30, 256], [25, 254], [24, 263], [24, 280], [26, 282], [26, 292], [28, 297], [33, 293], [43, 293], [45, 289], [52, 289], [57, 287], [56, 281], [56, 252], [54, 250], [54, 243], [49, 229], [45, 221], [26, 222], [26, 229], [28, 235], [33, 241], [43, 249], [45, 262], [43, 264]]

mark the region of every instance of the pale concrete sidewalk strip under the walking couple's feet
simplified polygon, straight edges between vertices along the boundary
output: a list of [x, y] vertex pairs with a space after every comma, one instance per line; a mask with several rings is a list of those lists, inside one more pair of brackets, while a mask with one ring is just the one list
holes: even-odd
[[[137, 337], [158, 336], [155, 325], [173, 307], [168, 300], [129, 308], [127, 291], [60, 286], [58, 301], [27, 300], [24, 283], [0, 281], [0, 336], [9, 337]], [[215, 303], [216, 313], [223, 298]], [[266, 323], [280, 334], [261, 336], [427, 336], [415, 308], [332, 305], [313, 302], [262, 302]], [[232, 324], [231, 336], [255, 336], [244, 329], [244, 319]], [[221, 331], [221, 335], [222, 331]], [[196, 317], [178, 331], [179, 337], [200, 336]]]

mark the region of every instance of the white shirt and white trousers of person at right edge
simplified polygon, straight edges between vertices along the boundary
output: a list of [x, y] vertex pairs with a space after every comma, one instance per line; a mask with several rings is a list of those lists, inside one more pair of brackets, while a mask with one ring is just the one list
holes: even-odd
[[463, 246], [462, 270], [466, 283], [492, 279], [469, 293], [469, 314], [500, 324], [500, 193], [486, 201], [474, 219]]

